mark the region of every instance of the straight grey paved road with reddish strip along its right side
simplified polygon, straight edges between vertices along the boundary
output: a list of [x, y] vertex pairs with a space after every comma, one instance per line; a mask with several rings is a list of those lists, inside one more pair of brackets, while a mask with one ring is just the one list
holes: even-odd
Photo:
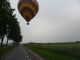
[[42, 60], [39, 56], [19, 45], [0, 60]]

